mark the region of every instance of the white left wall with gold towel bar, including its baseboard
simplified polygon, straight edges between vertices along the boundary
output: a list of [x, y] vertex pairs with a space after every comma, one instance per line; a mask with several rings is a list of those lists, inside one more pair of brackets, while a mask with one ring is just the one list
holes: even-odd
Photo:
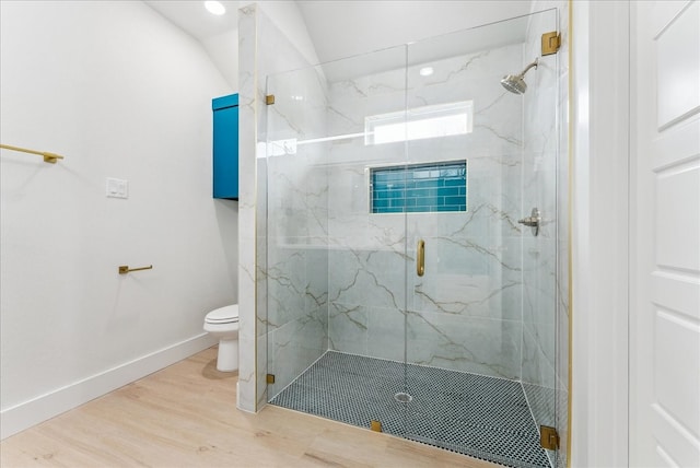
[[232, 90], [199, 43], [141, 2], [0, 9], [2, 143], [66, 156], [0, 159], [5, 437], [214, 342], [237, 204], [211, 198], [211, 97]]

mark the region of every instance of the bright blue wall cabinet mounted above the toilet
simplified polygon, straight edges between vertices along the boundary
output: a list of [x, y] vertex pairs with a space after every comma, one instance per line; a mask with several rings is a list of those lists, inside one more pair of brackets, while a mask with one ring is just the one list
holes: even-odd
[[214, 119], [213, 197], [238, 199], [238, 95], [211, 100]]

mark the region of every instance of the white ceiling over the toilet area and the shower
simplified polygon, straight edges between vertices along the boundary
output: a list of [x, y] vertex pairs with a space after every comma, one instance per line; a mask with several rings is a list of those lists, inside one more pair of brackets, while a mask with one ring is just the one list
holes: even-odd
[[[224, 77], [237, 87], [237, 10], [252, 1], [220, 0], [215, 16], [196, 0], [145, 0], [176, 26], [200, 40]], [[289, 11], [291, 0], [265, 0], [264, 10]], [[276, 5], [277, 4], [277, 5]], [[525, 0], [296, 0], [320, 63], [527, 14]], [[220, 39], [218, 39], [220, 38]]]

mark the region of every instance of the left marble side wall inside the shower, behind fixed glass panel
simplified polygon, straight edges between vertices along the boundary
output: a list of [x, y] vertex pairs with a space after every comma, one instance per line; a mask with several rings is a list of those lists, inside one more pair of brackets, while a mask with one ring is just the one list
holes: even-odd
[[268, 77], [268, 398], [328, 349], [325, 78], [318, 68]]

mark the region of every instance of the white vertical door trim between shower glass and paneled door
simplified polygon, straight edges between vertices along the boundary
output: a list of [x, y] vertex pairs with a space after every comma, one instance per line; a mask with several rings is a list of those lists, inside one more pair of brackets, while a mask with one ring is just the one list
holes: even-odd
[[572, 2], [573, 467], [629, 463], [629, 7]]

